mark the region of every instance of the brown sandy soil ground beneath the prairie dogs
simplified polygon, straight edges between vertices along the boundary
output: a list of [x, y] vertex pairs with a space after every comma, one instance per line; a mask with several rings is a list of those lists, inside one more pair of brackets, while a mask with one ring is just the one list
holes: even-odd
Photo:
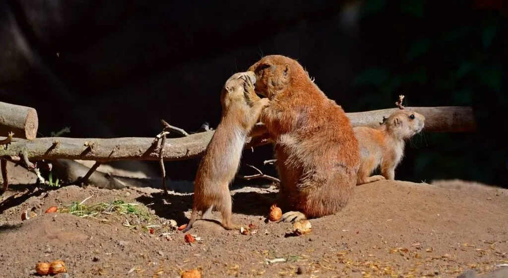
[[[34, 176], [10, 167], [12, 185], [0, 197], [0, 277], [37, 276], [37, 262], [54, 260], [65, 262], [70, 277], [180, 277], [189, 269], [204, 277], [457, 277], [508, 263], [508, 191], [478, 183], [364, 184], [343, 211], [310, 220], [312, 231], [300, 236], [292, 224], [265, 221], [269, 205], [259, 196], [276, 189], [234, 188], [233, 220], [257, 233], [202, 220], [189, 232], [200, 240], [186, 243], [168, 223], [187, 223], [192, 183], [170, 182], [167, 198], [155, 181], [122, 190], [37, 188]], [[61, 210], [114, 200], [139, 204], [150, 219]], [[60, 212], [44, 213], [50, 206]], [[22, 221], [25, 210], [37, 216]], [[152, 225], [160, 227], [143, 228]]]

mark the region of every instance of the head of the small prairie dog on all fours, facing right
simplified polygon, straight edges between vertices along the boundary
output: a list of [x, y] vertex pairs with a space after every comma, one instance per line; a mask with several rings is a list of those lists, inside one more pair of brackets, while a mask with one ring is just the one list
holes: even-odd
[[397, 139], [408, 139], [422, 131], [425, 117], [415, 111], [399, 110], [385, 121], [387, 131]]

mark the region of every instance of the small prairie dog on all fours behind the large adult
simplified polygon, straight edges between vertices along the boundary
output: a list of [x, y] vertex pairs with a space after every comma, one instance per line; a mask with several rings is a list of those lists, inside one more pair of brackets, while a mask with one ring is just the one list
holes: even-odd
[[[382, 179], [395, 179], [395, 168], [404, 156], [405, 140], [422, 131], [425, 117], [414, 111], [398, 110], [379, 128], [353, 128], [360, 143], [361, 164], [357, 186]], [[370, 176], [381, 166], [381, 175]]]

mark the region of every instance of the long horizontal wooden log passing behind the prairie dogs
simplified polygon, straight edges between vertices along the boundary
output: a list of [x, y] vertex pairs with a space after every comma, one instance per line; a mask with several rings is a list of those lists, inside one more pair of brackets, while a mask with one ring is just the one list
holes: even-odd
[[[379, 126], [383, 116], [396, 109], [347, 113], [353, 126]], [[476, 130], [472, 109], [469, 107], [414, 107], [426, 117], [426, 132], [472, 132]], [[164, 160], [177, 161], [203, 155], [214, 131], [190, 134], [181, 138], [168, 138], [164, 147]], [[246, 148], [268, 144], [266, 134], [249, 138]], [[35, 140], [16, 139], [0, 148], [0, 158], [12, 159], [26, 152], [30, 160], [79, 159], [100, 162], [117, 160], [158, 160], [154, 138], [86, 139], [48, 137]]]

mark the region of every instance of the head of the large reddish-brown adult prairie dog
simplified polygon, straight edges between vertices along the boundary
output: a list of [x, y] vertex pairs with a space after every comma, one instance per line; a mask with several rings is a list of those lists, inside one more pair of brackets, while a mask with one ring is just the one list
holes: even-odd
[[298, 77], [308, 78], [307, 73], [296, 60], [282, 55], [265, 56], [248, 70], [256, 74], [258, 82], [256, 93], [269, 100], [273, 100]]

